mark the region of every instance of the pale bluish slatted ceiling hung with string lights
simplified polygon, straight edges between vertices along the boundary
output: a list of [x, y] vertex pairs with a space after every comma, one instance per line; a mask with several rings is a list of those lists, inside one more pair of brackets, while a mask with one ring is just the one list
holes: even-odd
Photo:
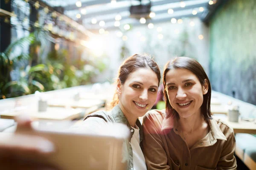
[[[117, 14], [122, 17], [119, 20], [119, 27], [123, 27], [125, 24], [142, 25], [139, 19], [130, 17], [130, 6], [140, 5], [140, 0], [80, 0], [81, 7], [76, 5], [78, 0], [41, 1], [52, 7], [62, 7], [64, 14], [81, 23], [89, 31], [99, 31], [100, 28], [105, 30], [118, 28], [114, 26]], [[218, 5], [217, 0], [213, 0], [212, 5], [209, 5], [209, 0], [141, 0], [141, 4], [148, 4], [149, 1], [151, 1], [151, 12], [155, 13], [155, 17], [147, 19], [145, 24], [171, 22], [172, 18], [183, 17], [200, 17], [205, 21], [213, 7]], [[169, 9], [173, 9], [172, 14], [168, 13]], [[77, 18], [77, 15], [81, 17]], [[97, 22], [92, 23], [92, 19], [96, 19]], [[105, 25], [99, 26], [100, 21], [104, 21]]]

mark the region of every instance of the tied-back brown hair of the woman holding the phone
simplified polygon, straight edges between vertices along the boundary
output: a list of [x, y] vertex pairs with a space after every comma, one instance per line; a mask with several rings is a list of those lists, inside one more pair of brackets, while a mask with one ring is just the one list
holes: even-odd
[[[160, 68], [157, 63], [148, 55], [148, 54], [134, 54], [131, 57], [125, 59], [125, 61], [120, 65], [117, 78], [120, 80], [123, 85], [128, 78], [129, 74], [136, 71], [139, 68], [151, 68], [155, 72], [158, 78], [158, 86], [161, 79]], [[119, 98], [117, 93], [113, 97], [113, 102], [111, 105], [114, 107], [119, 103]]]

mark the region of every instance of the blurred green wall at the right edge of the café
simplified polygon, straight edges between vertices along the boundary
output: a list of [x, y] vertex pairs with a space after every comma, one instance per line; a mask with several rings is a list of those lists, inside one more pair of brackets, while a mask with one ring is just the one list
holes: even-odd
[[256, 0], [229, 0], [210, 23], [212, 89], [256, 105]]

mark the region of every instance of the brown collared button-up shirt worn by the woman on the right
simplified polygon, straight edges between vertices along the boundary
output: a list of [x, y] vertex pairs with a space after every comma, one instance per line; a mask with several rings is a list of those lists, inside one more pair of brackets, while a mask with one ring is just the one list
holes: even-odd
[[233, 129], [209, 120], [209, 133], [190, 149], [164, 110], [149, 111], [143, 119], [143, 153], [148, 170], [236, 170]]

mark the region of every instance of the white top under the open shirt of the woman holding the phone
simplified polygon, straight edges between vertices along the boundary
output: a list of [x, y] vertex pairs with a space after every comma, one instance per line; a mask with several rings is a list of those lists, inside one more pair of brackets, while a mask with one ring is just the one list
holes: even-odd
[[133, 163], [134, 168], [133, 170], [146, 170], [146, 162], [145, 157], [142, 153], [142, 150], [140, 148], [140, 129], [137, 125], [135, 125], [136, 128], [132, 127], [134, 129], [134, 134], [131, 137], [131, 147], [132, 147], [132, 154], [133, 154]]

